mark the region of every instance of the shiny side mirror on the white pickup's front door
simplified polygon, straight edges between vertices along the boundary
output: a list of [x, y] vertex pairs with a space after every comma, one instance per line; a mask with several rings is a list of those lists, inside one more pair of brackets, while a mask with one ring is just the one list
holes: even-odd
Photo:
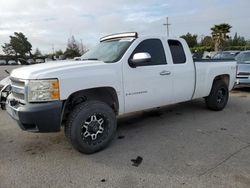
[[147, 52], [134, 54], [133, 58], [129, 60], [129, 65], [133, 68], [143, 66], [145, 63], [151, 61], [151, 55]]

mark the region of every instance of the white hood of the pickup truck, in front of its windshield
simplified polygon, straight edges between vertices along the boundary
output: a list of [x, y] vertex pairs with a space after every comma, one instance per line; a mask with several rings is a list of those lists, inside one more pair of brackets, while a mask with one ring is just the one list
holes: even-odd
[[19, 79], [42, 79], [42, 78], [57, 78], [60, 74], [87, 67], [95, 67], [105, 65], [103, 61], [52, 61], [48, 63], [29, 65], [12, 70], [11, 77]]

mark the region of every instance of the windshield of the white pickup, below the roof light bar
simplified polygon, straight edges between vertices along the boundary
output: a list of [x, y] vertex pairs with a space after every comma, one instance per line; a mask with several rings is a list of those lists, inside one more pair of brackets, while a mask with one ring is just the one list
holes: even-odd
[[100, 60], [105, 63], [121, 59], [134, 39], [117, 39], [99, 43], [95, 48], [82, 55], [81, 60]]

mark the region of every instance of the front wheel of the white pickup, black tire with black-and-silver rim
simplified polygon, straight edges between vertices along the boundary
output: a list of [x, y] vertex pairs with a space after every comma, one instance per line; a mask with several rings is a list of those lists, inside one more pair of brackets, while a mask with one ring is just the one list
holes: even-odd
[[114, 111], [100, 101], [86, 101], [70, 114], [65, 134], [75, 149], [91, 154], [105, 148], [116, 132]]

